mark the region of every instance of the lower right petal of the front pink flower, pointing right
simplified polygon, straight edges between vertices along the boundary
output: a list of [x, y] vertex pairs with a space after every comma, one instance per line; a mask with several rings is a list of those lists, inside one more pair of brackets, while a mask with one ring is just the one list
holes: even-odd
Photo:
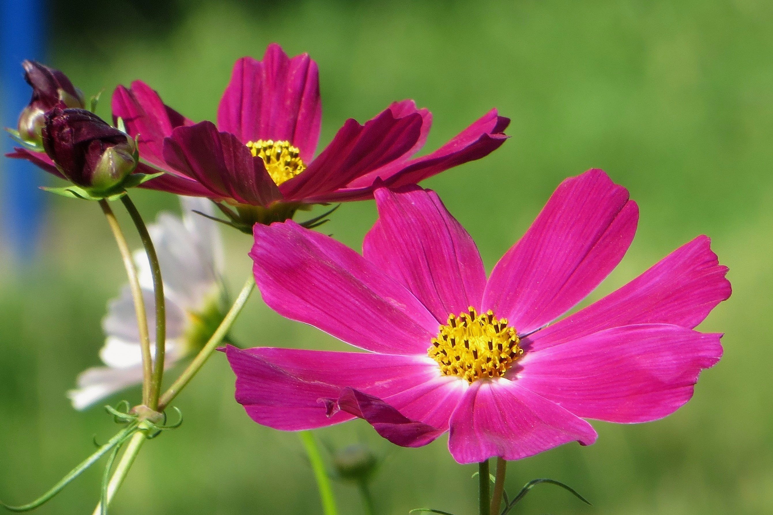
[[615, 327], [527, 353], [516, 382], [580, 417], [650, 422], [690, 400], [700, 371], [722, 356], [720, 336], [666, 324]]

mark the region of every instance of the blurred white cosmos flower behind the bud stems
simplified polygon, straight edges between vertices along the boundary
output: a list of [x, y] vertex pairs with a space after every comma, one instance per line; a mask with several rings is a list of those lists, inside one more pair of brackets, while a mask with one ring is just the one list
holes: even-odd
[[[182, 219], [163, 212], [148, 226], [158, 255], [166, 298], [165, 368], [194, 354], [223, 320], [223, 242], [206, 198], [180, 197]], [[135, 252], [138, 276], [148, 313], [151, 349], [155, 347], [153, 280], [144, 250]], [[135, 306], [128, 285], [107, 305], [102, 322], [107, 338], [100, 350], [104, 367], [83, 371], [77, 388], [67, 392], [73, 408], [85, 409], [142, 382], [142, 359]], [[155, 354], [155, 353], [154, 353]]]

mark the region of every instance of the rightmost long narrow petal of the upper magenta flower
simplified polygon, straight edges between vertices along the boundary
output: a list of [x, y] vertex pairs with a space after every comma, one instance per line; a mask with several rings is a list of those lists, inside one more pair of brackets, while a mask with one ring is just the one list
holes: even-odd
[[431, 154], [380, 168], [320, 198], [320, 201], [342, 202], [370, 198], [373, 196], [373, 182], [376, 178], [382, 178], [390, 188], [414, 185], [441, 171], [484, 158], [509, 137], [504, 134], [509, 123], [509, 118], [500, 117], [495, 109], [490, 110]]

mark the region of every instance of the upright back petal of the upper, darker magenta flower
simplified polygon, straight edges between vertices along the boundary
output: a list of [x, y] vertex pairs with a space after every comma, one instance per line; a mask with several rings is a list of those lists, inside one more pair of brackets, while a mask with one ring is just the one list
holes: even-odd
[[242, 143], [290, 141], [308, 163], [314, 157], [322, 124], [317, 63], [301, 54], [292, 59], [272, 43], [262, 61], [243, 57], [217, 109], [217, 126]]

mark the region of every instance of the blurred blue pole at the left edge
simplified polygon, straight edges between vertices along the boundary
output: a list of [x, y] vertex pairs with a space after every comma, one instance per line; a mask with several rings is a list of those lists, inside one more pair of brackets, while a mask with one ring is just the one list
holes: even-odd
[[[32, 96], [23, 79], [22, 60], [43, 60], [43, 13], [45, 0], [0, 0], [0, 120], [2, 127], [16, 127], [19, 112]], [[5, 133], [5, 130], [2, 131]], [[13, 141], [0, 134], [3, 154]], [[35, 254], [43, 224], [45, 172], [20, 159], [0, 158], [0, 216], [3, 246], [19, 263]]]

